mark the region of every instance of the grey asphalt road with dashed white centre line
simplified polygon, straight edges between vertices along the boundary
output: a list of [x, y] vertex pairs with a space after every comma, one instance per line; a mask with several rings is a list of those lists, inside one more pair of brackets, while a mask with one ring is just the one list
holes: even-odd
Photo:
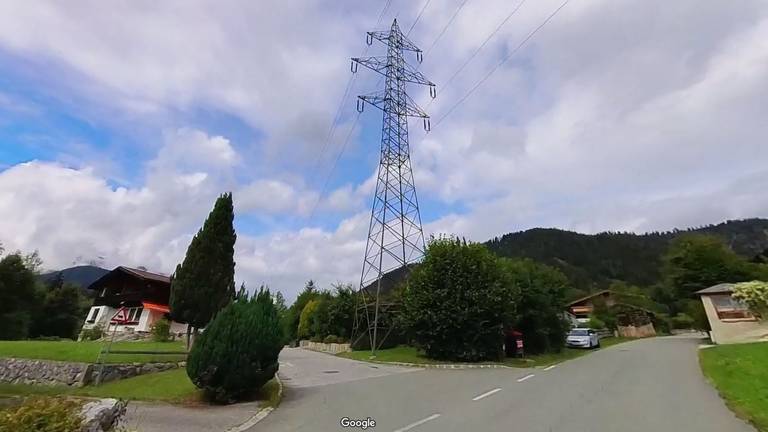
[[[639, 340], [550, 369], [392, 368], [370, 377], [359, 374], [366, 364], [312, 353], [289, 361], [283, 403], [251, 431], [350, 430], [342, 417], [370, 417], [376, 427], [367, 430], [388, 432], [754, 432], [704, 381], [698, 343]], [[303, 368], [313, 359], [339, 372], [313, 381], [318, 369]], [[344, 377], [345, 368], [358, 375]]]

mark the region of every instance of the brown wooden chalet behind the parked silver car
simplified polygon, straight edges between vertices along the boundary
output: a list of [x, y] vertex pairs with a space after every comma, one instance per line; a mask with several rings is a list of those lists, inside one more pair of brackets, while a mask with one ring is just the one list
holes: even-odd
[[649, 337], [656, 336], [653, 326], [655, 313], [624, 302], [627, 294], [617, 293], [611, 290], [602, 290], [586, 297], [574, 300], [567, 305], [566, 313], [575, 317], [575, 321], [581, 324], [589, 322], [590, 315], [595, 310], [596, 304], [604, 304], [616, 314], [617, 331], [624, 337]]

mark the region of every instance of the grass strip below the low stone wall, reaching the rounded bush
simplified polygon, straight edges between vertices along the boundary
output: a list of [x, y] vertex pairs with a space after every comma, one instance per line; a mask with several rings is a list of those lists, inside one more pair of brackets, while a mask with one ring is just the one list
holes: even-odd
[[[279, 385], [273, 379], [259, 390], [256, 400], [264, 401], [267, 406], [277, 406], [280, 403], [278, 389]], [[186, 370], [183, 368], [112, 381], [98, 387], [72, 388], [0, 383], [0, 398], [3, 396], [26, 395], [111, 397], [127, 400], [195, 404], [201, 403], [203, 400], [202, 392], [192, 384], [192, 381], [187, 377]]]

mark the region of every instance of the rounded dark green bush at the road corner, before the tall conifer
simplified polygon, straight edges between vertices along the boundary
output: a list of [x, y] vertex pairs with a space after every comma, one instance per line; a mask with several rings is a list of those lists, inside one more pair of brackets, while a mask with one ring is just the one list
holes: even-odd
[[218, 402], [257, 391], [278, 369], [283, 347], [280, 319], [268, 289], [240, 297], [222, 309], [197, 338], [187, 374]]

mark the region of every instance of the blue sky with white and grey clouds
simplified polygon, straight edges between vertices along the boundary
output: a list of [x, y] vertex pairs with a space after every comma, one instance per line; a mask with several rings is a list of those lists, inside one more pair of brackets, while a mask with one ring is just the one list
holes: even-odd
[[0, 242], [170, 274], [232, 191], [238, 284], [354, 284], [382, 118], [349, 58], [395, 18], [437, 85], [427, 236], [768, 216], [768, 2], [571, 0], [516, 48], [561, 4], [0, 2]]

